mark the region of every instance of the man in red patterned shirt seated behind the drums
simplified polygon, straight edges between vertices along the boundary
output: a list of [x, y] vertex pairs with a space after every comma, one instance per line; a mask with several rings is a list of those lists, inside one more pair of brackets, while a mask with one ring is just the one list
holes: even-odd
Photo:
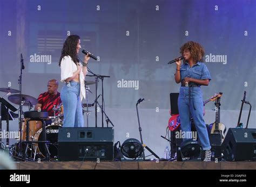
[[[39, 108], [41, 111], [47, 111], [48, 116], [54, 116], [53, 113], [53, 105], [59, 105], [62, 103], [62, 100], [60, 99], [60, 93], [58, 92], [58, 81], [55, 79], [52, 79], [48, 81], [48, 91], [41, 93], [37, 100], [38, 103], [35, 106], [35, 110], [38, 110]], [[56, 115], [58, 115], [59, 112], [56, 111]], [[46, 125], [51, 124], [51, 121], [46, 121]]]

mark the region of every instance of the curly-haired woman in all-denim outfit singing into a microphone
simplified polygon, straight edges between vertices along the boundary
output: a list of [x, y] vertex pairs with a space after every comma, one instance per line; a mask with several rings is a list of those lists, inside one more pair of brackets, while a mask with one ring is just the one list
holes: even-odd
[[211, 80], [205, 63], [201, 62], [204, 48], [197, 42], [189, 41], [181, 46], [180, 53], [184, 57], [184, 63], [181, 65], [181, 59], [176, 61], [174, 78], [176, 83], [181, 82], [178, 98], [181, 131], [191, 132], [192, 116], [201, 146], [205, 150], [204, 161], [211, 161], [211, 145], [203, 118], [203, 92], [200, 88], [201, 85], [208, 85]]

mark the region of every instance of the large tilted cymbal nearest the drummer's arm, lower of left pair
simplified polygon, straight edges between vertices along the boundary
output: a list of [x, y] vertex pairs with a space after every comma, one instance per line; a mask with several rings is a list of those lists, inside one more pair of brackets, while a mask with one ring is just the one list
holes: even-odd
[[[21, 104], [21, 95], [20, 94], [14, 94], [8, 97], [10, 102], [14, 104]], [[22, 101], [24, 102], [24, 106], [30, 106], [30, 104], [35, 105], [38, 103], [37, 99], [32, 96], [24, 95], [22, 94]]]

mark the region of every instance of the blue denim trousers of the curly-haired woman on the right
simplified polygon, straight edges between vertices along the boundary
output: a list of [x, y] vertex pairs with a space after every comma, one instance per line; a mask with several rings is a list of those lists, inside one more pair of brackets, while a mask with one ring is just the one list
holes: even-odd
[[[190, 89], [190, 106], [188, 105], [188, 92]], [[189, 107], [188, 107], [189, 106]], [[207, 128], [203, 118], [203, 92], [200, 87], [180, 87], [178, 108], [182, 132], [191, 132], [190, 113], [197, 128], [198, 138], [203, 150], [211, 149]], [[190, 109], [189, 109], [190, 108]]]

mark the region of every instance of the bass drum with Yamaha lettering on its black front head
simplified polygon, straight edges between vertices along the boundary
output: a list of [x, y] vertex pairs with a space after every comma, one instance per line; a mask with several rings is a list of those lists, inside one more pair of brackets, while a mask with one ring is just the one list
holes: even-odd
[[[57, 160], [58, 159], [58, 133], [59, 125], [49, 125], [45, 129], [46, 134], [46, 141], [50, 141], [48, 144], [49, 152], [50, 152], [50, 159]], [[36, 134], [33, 141], [43, 141], [43, 128], [41, 128]], [[33, 149], [37, 156], [45, 158], [46, 150], [45, 150], [45, 143], [35, 143], [33, 145]]]

